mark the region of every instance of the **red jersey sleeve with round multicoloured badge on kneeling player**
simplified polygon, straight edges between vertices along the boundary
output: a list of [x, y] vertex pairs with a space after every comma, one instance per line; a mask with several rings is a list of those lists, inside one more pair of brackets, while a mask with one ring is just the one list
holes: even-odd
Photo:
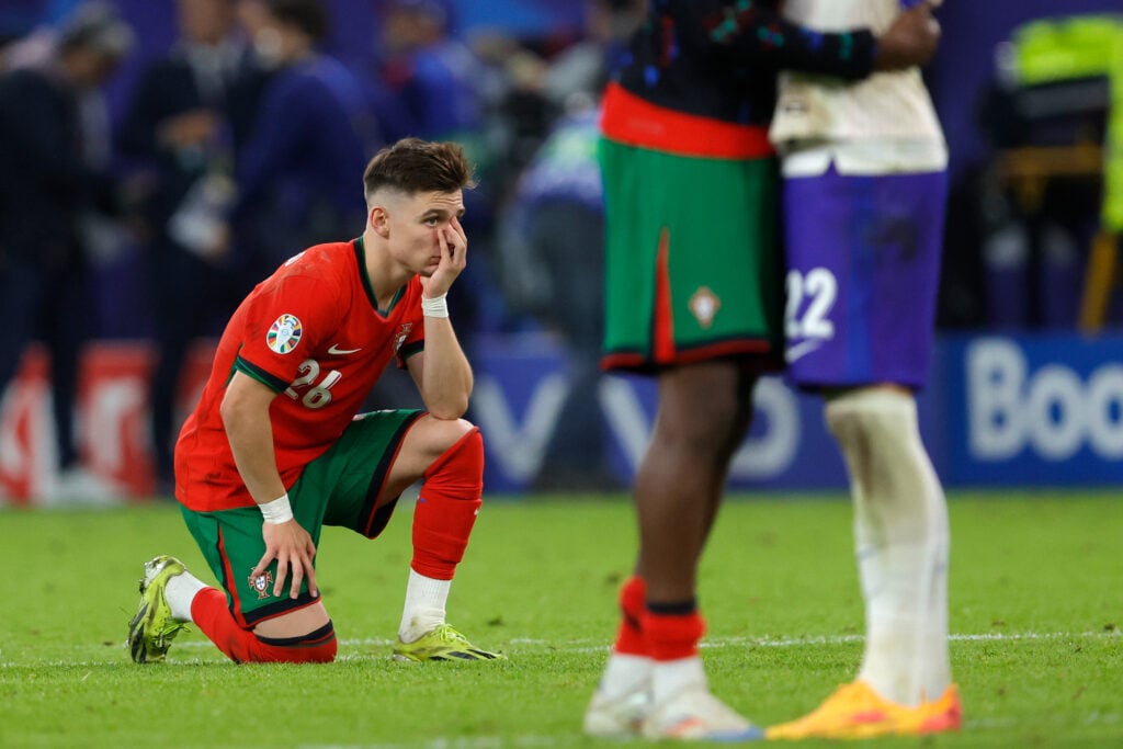
[[294, 273], [271, 280], [247, 309], [235, 368], [283, 392], [339, 328], [341, 299], [328, 278]]

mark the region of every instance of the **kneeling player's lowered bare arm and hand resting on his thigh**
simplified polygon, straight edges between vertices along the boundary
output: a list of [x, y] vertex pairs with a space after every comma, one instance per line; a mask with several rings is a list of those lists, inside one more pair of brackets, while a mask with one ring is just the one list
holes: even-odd
[[[273, 453], [273, 427], [270, 422], [270, 403], [276, 393], [263, 383], [240, 372], [236, 372], [222, 399], [222, 423], [230, 451], [234, 454], [238, 473], [258, 505], [276, 500], [285, 494], [284, 484], [276, 468]], [[295, 520], [262, 523], [265, 555], [253, 570], [253, 576], [264, 574], [273, 559], [277, 560], [274, 595], [282, 595], [284, 583], [292, 570], [290, 596], [300, 595], [300, 586], [308, 577], [309, 592], [318, 595], [316, 569], [316, 545], [308, 531]]]

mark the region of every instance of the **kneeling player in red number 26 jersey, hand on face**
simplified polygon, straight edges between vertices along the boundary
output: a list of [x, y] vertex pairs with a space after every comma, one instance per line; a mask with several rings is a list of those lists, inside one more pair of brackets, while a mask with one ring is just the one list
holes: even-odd
[[[176, 497], [222, 588], [168, 556], [145, 565], [137, 663], [194, 622], [236, 663], [323, 663], [336, 637], [316, 579], [322, 526], [375, 538], [424, 482], [394, 657], [490, 660], [445, 622], [483, 490], [483, 440], [460, 419], [472, 369], [445, 294], [464, 270], [471, 170], [459, 146], [407, 139], [363, 175], [363, 235], [316, 245], [234, 313], [175, 449]], [[427, 411], [356, 417], [391, 359]]]

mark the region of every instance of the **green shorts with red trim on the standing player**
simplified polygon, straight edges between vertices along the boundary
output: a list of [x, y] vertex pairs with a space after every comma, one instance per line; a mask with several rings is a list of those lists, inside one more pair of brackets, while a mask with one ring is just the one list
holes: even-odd
[[718, 357], [783, 359], [776, 159], [669, 154], [601, 140], [605, 369]]

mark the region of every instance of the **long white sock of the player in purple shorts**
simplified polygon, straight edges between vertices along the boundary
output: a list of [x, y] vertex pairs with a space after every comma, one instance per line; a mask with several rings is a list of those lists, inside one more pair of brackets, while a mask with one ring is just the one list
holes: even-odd
[[866, 389], [831, 400], [827, 421], [850, 473], [866, 602], [858, 678], [905, 705], [937, 700], [948, 655], [948, 510], [911, 395]]

